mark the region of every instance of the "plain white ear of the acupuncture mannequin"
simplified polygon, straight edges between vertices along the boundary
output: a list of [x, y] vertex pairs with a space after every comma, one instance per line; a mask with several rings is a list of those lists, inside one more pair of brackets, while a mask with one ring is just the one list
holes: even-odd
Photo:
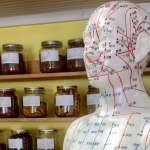
[[140, 62], [150, 51], [150, 37], [141, 33], [137, 39], [135, 62]]

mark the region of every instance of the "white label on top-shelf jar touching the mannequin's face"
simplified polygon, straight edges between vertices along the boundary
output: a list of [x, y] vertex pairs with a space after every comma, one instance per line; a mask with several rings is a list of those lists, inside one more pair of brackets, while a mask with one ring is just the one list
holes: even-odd
[[70, 48], [67, 49], [67, 60], [70, 59], [83, 59], [84, 48]]

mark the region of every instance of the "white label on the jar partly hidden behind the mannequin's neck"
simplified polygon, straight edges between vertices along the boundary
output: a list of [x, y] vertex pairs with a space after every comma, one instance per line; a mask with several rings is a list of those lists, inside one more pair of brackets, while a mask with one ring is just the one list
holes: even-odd
[[97, 105], [97, 104], [100, 104], [100, 94], [88, 94], [87, 105]]

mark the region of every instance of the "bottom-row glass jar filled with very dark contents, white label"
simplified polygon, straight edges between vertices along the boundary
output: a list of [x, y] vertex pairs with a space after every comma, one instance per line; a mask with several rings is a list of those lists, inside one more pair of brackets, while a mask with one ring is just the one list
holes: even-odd
[[33, 139], [28, 130], [11, 130], [9, 150], [33, 150]]

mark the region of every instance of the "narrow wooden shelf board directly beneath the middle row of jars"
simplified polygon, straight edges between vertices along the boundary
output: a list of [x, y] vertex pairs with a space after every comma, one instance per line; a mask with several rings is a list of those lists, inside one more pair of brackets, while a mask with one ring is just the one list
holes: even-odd
[[0, 122], [73, 122], [78, 117], [68, 118], [1, 118]]

